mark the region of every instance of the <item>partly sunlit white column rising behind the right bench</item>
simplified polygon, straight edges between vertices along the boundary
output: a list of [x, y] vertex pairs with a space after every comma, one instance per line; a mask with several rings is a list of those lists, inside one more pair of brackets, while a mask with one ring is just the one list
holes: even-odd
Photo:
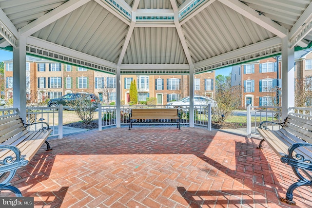
[[289, 48], [288, 37], [282, 38], [282, 118], [294, 107], [294, 48]]

